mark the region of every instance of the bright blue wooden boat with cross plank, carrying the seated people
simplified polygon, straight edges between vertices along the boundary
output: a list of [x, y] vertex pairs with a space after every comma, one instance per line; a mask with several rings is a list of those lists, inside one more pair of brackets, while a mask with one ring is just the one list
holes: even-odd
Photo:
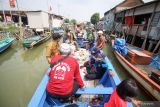
[[[120, 79], [117, 75], [117, 73], [115, 72], [111, 62], [109, 61], [109, 59], [106, 57], [105, 58], [106, 64], [108, 65], [109, 69], [111, 70], [111, 72], [114, 73], [113, 77], [110, 77], [108, 75], [108, 73], [106, 72], [104, 74], [104, 76], [102, 77], [102, 79], [98, 82], [99, 84], [102, 84], [103, 87], [87, 87], [84, 90], [78, 90], [77, 94], [81, 94], [81, 97], [85, 94], [85, 95], [97, 95], [97, 94], [102, 94], [104, 95], [104, 99], [103, 99], [103, 103], [106, 102], [106, 100], [109, 99], [109, 96], [111, 95], [111, 93], [113, 92], [113, 90], [115, 89], [115, 87], [120, 83]], [[48, 69], [48, 72], [50, 71], [50, 69]], [[46, 85], [47, 82], [49, 80], [49, 77], [47, 74], [45, 74], [45, 76], [43, 77], [41, 83], [39, 84], [38, 88], [36, 89], [34, 95], [32, 96], [32, 99], [30, 100], [28, 107], [50, 107], [47, 103], [46, 100]], [[82, 97], [83, 99], [83, 97]], [[84, 102], [75, 102], [79, 107], [88, 107], [89, 106], [89, 102], [87, 100], [84, 100]], [[62, 104], [60, 103], [58, 100], [54, 99], [54, 104], [56, 107], [64, 107], [65, 105], [67, 105], [67, 103]], [[90, 106], [96, 106], [96, 107], [103, 107], [102, 105], [90, 105]], [[131, 103], [127, 104], [127, 107], [133, 107]]]

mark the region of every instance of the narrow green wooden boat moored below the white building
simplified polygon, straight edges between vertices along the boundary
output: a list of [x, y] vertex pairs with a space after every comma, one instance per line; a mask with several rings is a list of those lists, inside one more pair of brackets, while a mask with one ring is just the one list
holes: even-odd
[[35, 45], [41, 44], [44, 41], [47, 41], [51, 37], [50, 34], [47, 35], [35, 35], [23, 40], [23, 47], [32, 48]]

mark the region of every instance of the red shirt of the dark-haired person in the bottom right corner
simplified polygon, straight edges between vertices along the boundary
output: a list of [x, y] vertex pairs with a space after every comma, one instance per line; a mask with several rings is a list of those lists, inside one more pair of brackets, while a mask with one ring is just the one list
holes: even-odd
[[117, 92], [116, 89], [113, 91], [109, 101], [104, 104], [104, 107], [126, 107], [127, 106], [127, 101], [121, 99]]

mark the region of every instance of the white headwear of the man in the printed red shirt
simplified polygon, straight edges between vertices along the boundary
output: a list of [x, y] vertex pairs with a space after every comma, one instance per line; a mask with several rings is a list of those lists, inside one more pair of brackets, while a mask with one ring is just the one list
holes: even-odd
[[67, 43], [62, 43], [62, 44], [60, 45], [60, 52], [61, 52], [62, 54], [68, 54], [68, 53], [70, 53], [70, 52], [71, 52], [70, 45], [67, 44]]

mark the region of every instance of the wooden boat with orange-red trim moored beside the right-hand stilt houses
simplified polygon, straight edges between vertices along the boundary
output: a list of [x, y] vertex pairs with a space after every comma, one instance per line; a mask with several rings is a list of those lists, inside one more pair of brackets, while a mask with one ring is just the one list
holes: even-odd
[[[113, 45], [114, 41], [112, 41], [112, 46]], [[146, 92], [154, 99], [160, 101], [160, 84], [149, 77], [151, 72], [160, 77], [160, 70], [149, 66], [152, 53], [132, 45], [127, 45], [127, 48], [128, 54], [125, 57], [114, 50], [116, 58], [128, 73], [143, 86]]]

